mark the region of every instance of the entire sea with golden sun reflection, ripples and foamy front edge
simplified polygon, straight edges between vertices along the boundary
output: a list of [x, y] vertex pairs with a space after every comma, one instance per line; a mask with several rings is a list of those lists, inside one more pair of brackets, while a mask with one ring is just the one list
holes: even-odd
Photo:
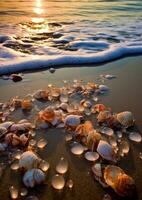
[[0, 0], [0, 75], [142, 54], [142, 0]]

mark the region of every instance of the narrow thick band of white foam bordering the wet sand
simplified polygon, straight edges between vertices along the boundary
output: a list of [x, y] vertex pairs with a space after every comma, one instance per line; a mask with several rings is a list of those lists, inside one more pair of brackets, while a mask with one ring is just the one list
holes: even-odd
[[[77, 53], [77, 52], [76, 52]], [[20, 71], [44, 69], [61, 65], [101, 64], [123, 56], [142, 54], [142, 46], [111, 47], [108, 50], [85, 55], [40, 56], [11, 60], [10, 64], [0, 66], [0, 75]]]

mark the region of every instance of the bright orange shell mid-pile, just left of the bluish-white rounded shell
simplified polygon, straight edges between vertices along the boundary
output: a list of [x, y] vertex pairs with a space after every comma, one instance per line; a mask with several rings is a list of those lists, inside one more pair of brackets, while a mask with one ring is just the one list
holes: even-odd
[[51, 123], [55, 118], [55, 112], [51, 107], [47, 107], [45, 110], [39, 112], [39, 118]]

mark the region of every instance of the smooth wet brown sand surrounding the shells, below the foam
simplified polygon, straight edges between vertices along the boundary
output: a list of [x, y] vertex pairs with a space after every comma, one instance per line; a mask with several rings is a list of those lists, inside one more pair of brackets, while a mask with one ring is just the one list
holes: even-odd
[[[27, 73], [24, 74], [22, 82], [13, 83], [10, 80], [0, 80], [0, 101], [6, 101], [17, 95], [24, 97], [37, 89], [46, 88], [49, 83], [63, 85], [62, 80], [73, 81], [74, 79], [99, 83], [99, 75], [113, 74], [117, 78], [105, 82], [110, 91], [107, 95], [101, 96], [100, 102], [110, 106], [114, 112], [132, 111], [136, 119], [137, 128], [142, 131], [141, 65], [142, 56], [137, 56], [123, 58], [98, 67], [86, 66], [57, 69], [54, 74], [49, 71]], [[114, 194], [111, 189], [104, 189], [93, 180], [90, 173], [91, 164], [84, 159], [83, 155], [76, 157], [71, 154], [64, 136], [65, 132], [61, 129], [50, 129], [37, 133], [37, 138], [44, 137], [48, 141], [46, 148], [38, 153], [43, 159], [49, 161], [51, 167], [47, 174], [46, 184], [30, 190], [29, 194], [35, 194], [40, 200], [101, 200], [105, 193], [109, 193], [113, 200], [123, 199]], [[141, 143], [130, 142], [128, 156], [122, 158], [118, 163], [124, 171], [135, 179], [138, 197], [133, 198], [133, 200], [142, 199], [142, 160], [139, 158], [140, 151], [142, 151]], [[73, 180], [74, 187], [72, 190], [64, 189], [57, 192], [52, 189], [50, 180], [55, 173], [55, 166], [62, 156], [67, 158], [69, 162], [69, 171], [65, 177]], [[13, 184], [21, 188], [21, 176], [18, 172], [13, 172], [7, 168], [1, 179], [0, 199], [10, 199], [8, 188]]]

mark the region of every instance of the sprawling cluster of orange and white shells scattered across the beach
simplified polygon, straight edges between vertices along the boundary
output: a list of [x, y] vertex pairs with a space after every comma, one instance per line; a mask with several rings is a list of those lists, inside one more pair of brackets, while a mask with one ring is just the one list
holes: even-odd
[[[113, 76], [101, 77], [112, 78]], [[0, 153], [7, 156], [12, 170], [19, 170], [25, 188], [21, 196], [28, 194], [28, 188], [43, 184], [49, 163], [37, 155], [37, 148], [43, 149], [47, 141], [34, 139], [40, 129], [61, 128], [65, 130], [65, 140], [75, 156], [84, 155], [92, 162], [92, 174], [102, 187], [111, 187], [120, 196], [131, 196], [135, 191], [133, 178], [117, 166], [118, 161], [127, 156], [130, 141], [141, 142], [139, 132], [131, 131], [135, 120], [130, 111], [114, 113], [101, 104], [101, 95], [108, 92], [106, 85], [74, 80], [64, 81], [63, 87], [49, 84], [24, 99], [14, 97], [0, 103]], [[28, 113], [29, 119], [15, 122], [16, 112]], [[90, 117], [91, 116], [91, 117]], [[89, 120], [89, 119], [91, 120]], [[73, 181], [65, 181], [63, 174], [68, 170], [68, 161], [61, 158], [56, 166], [51, 185], [63, 189], [73, 187]], [[19, 192], [10, 187], [12, 199]]]

